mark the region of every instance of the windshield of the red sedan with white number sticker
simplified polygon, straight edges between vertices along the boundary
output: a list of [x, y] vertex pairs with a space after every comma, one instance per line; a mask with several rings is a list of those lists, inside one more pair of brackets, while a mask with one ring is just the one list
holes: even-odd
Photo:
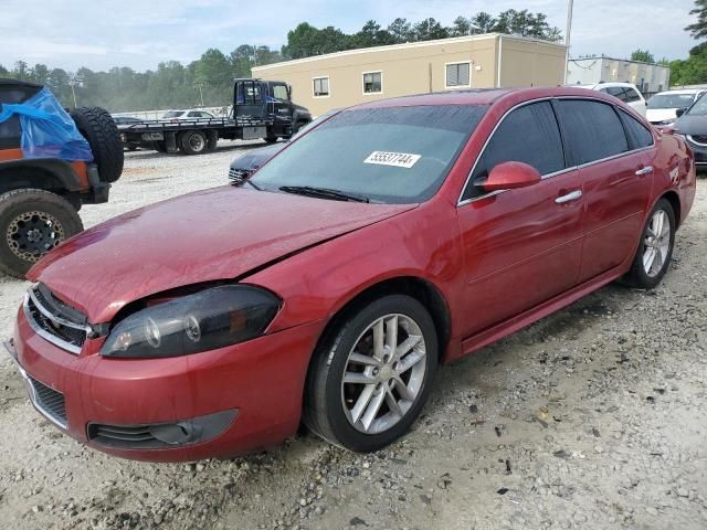
[[344, 110], [284, 149], [252, 181], [268, 191], [310, 187], [371, 202], [422, 202], [440, 188], [486, 108]]

